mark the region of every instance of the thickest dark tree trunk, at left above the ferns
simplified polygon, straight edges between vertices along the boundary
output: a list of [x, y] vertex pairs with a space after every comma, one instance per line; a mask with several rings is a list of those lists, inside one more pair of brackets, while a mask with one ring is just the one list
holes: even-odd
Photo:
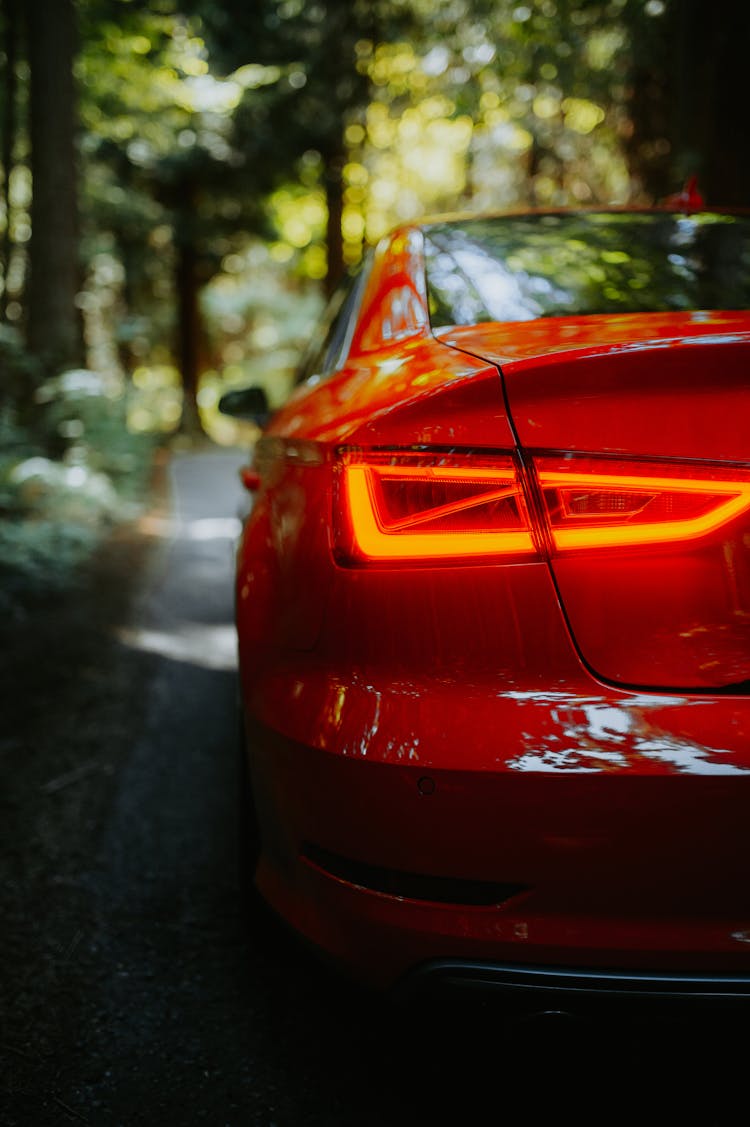
[[73, 0], [26, 0], [32, 240], [28, 341], [51, 369], [80, 363]]

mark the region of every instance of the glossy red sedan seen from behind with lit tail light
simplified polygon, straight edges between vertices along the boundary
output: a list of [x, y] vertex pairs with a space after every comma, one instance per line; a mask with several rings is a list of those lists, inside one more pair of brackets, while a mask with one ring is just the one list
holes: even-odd
[[237, 627], [257, 889], [359, 979], [750, 995], [749, 309], [750, 218], [671, 207], [332, 302]]

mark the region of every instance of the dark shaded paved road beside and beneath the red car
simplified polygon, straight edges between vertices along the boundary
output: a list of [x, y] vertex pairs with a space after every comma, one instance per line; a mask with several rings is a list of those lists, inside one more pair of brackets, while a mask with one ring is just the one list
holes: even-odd
[[[168, 508], [142, 523], [152, 549], [127, 620], [103, 619], [117, 640], [103, 642], [99, 668], [89, 653], [86, 676], [70, 676], [25, 737], [47, 758], [14, 800], [3, 870], [15, 938], [2, 957], [18, 980], [5, 995], [0, 1121], [732, 1122], [725, 1022], [716, 1041], [695, 1021], [397, 1009], [281, 938], [248, 937], [235, 877], [238, 463], [173, 461]], [[18, 771], [30, 762], [19, 755]]]

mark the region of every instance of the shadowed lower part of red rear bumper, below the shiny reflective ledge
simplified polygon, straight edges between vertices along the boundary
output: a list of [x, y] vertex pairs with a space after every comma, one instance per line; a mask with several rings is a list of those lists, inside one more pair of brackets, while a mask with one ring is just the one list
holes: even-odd
[[747, 993], [744, 777], [445, 771], [261, 726], [250, 742], [259, 890], [359, 980]]

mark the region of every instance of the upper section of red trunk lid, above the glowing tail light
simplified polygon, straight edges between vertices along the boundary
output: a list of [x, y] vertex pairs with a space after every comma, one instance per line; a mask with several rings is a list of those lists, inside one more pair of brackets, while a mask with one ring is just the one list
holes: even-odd
[[549, 318], [443, 337], [503, 372], [530, 449], [750, 461], [750, 317]]

